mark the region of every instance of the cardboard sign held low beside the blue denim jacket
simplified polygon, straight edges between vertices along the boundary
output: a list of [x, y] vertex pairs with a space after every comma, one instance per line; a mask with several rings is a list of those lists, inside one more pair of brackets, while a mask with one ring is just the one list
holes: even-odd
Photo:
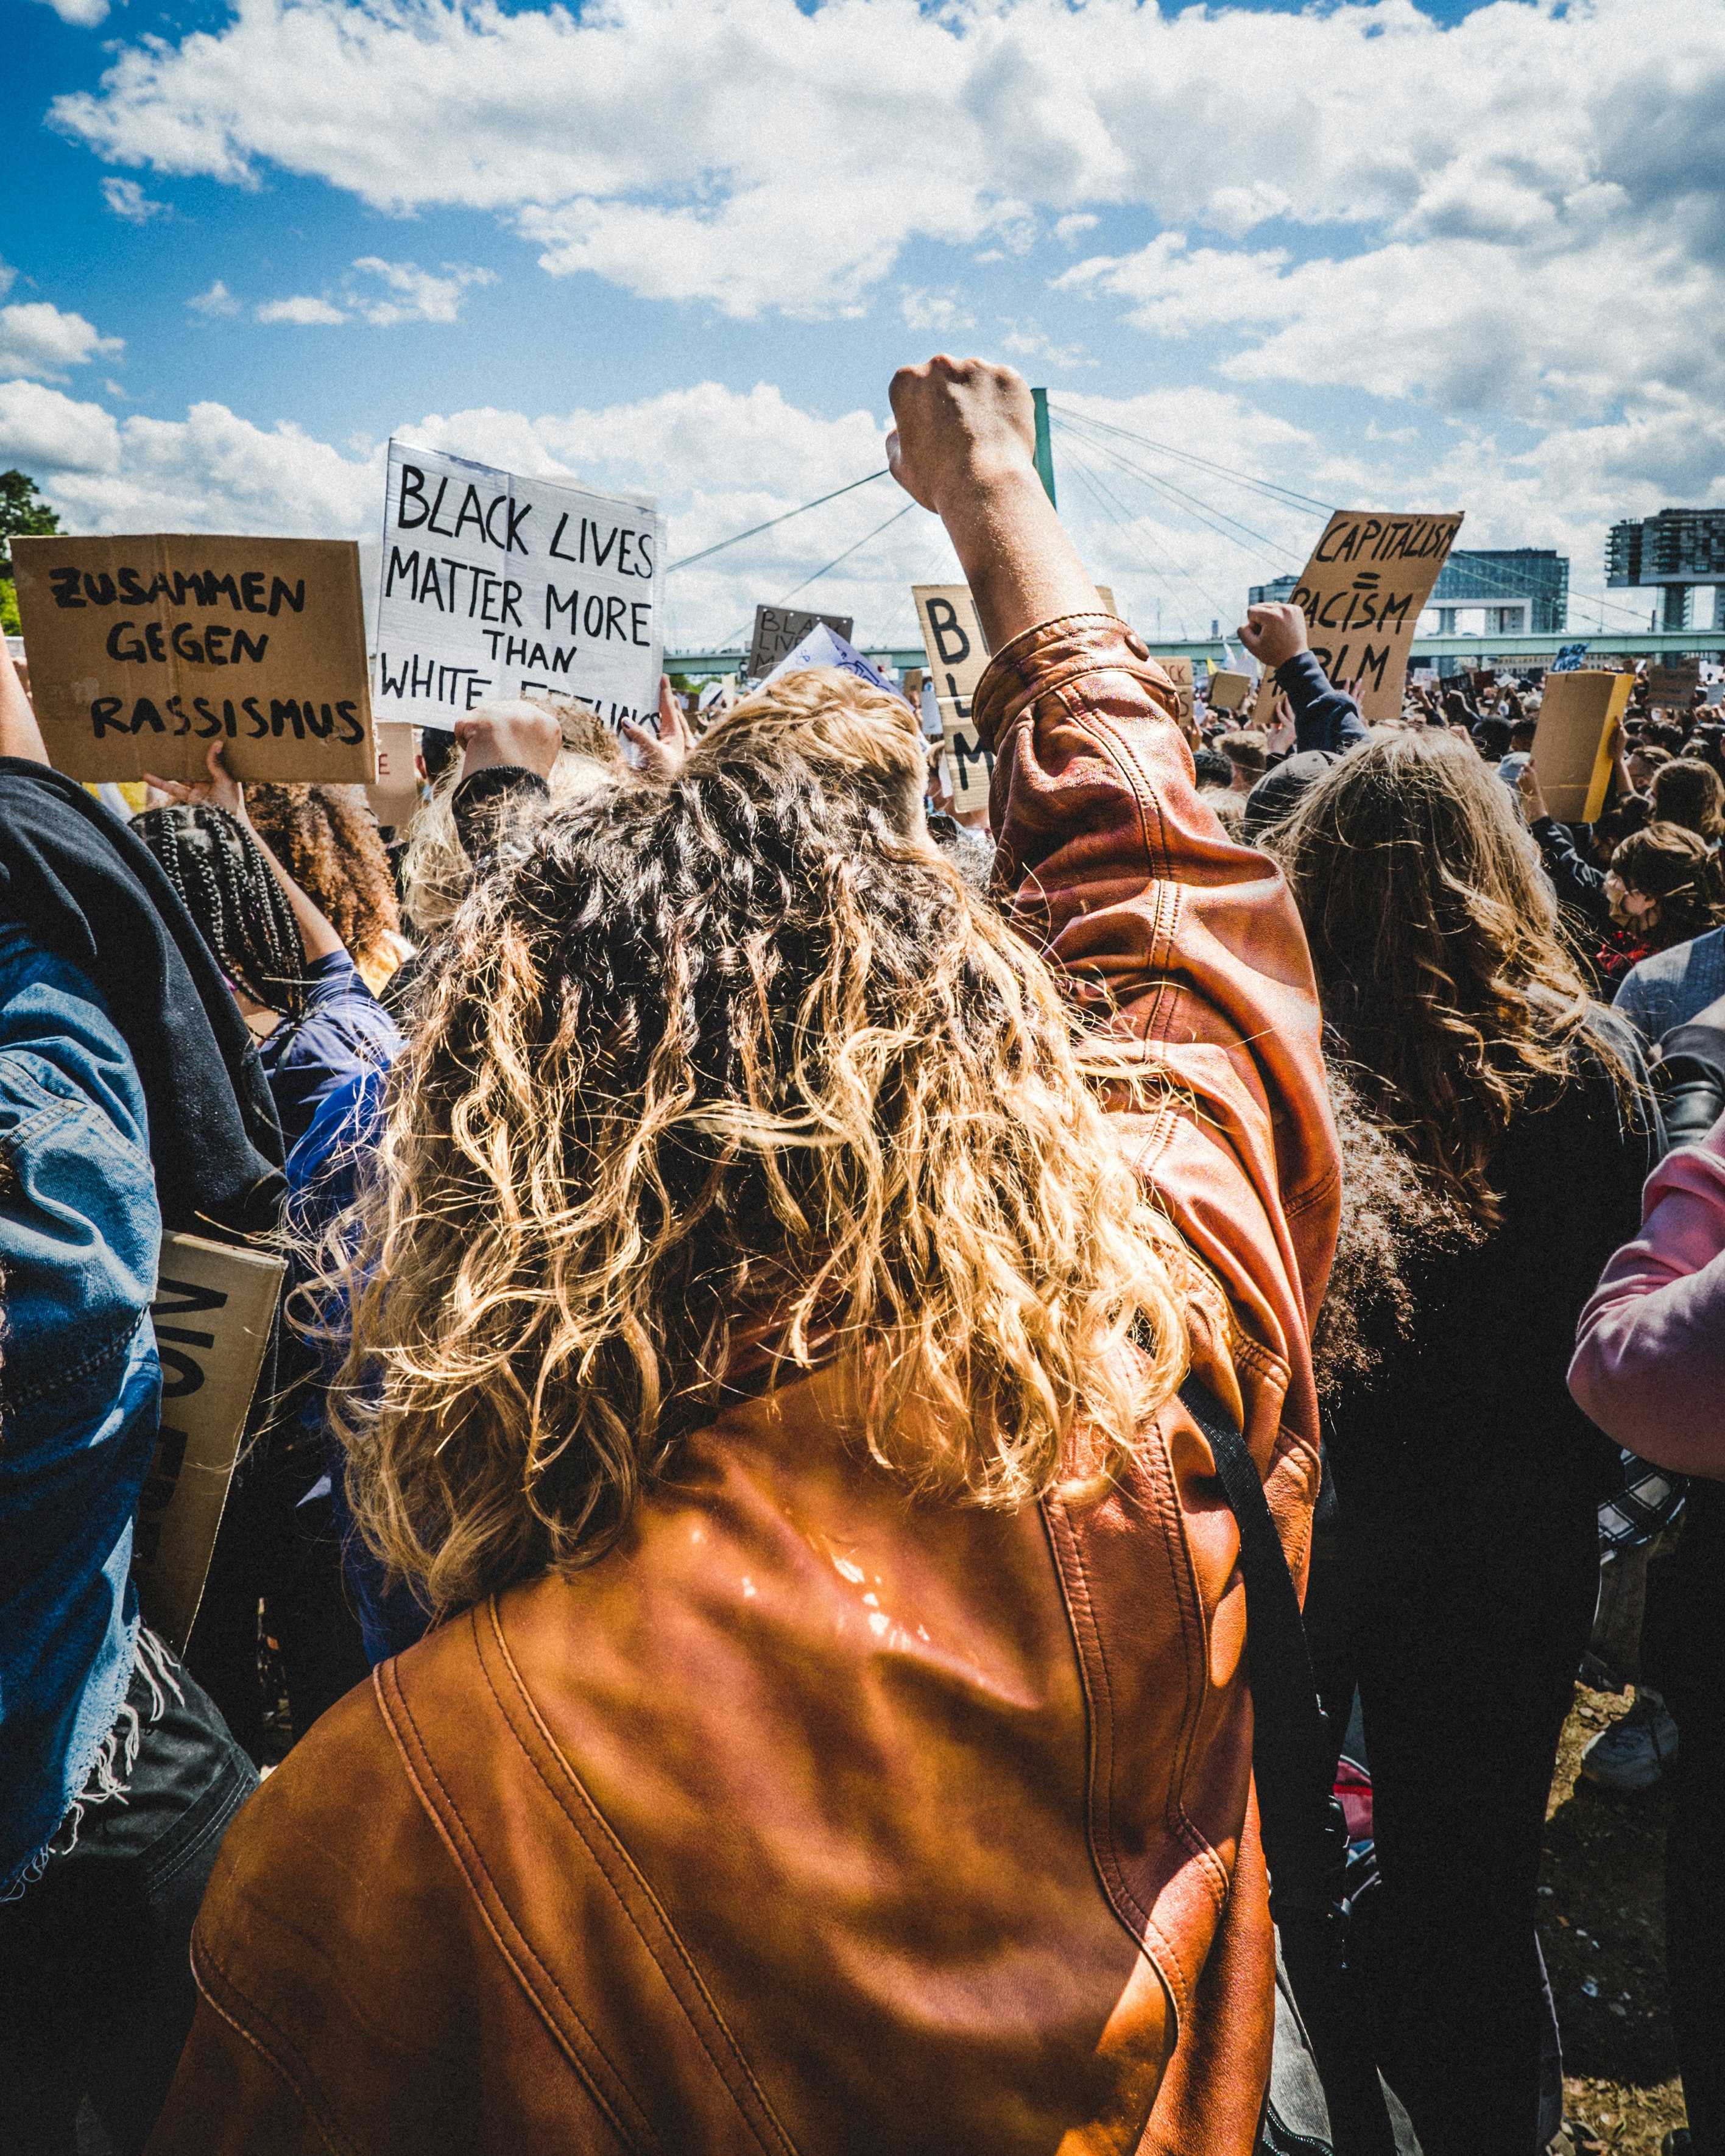
[[285, 1272], [285, 1259], [259, 1250], [203, 1235], [162, 1238], [151, 1304], [162, 1427], [138, 1501], [132, 1576], [144, 1619], [177, 1654], [203, 1600]]

